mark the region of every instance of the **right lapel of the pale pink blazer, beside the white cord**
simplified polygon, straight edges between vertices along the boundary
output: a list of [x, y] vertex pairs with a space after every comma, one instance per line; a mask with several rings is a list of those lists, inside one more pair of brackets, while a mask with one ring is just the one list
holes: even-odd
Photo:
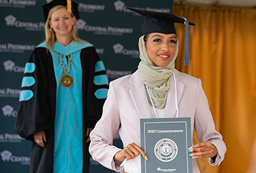
[[[181, 97], [184, 91], [184, 84], [180, 82], [183, 76], [179, 73], [176, 69], [173, 72], [175, 75], [171, 75], [170, 80], [170, 88], [167, 95], [167, 101], [165, 104], [165, 112], [163, 114], [164, 118], [175, 118], [177, 116], [177, 108], [176, 108], [176, 101], [175, 101], [175, 80], [177, 86], [177, 104], [179, 107], [179, 103], [181, 102]], [[175, 76], [175, 80], [173, 78]], [[180, 117], [180, 116], [179, 116]]]

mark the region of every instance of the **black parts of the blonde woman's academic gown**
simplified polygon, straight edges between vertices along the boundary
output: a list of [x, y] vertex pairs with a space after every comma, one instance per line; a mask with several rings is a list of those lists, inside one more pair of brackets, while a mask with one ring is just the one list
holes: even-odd
[[[80, 52], [82, 69], [82, 102], [83, 102], [83, 172], [89, 172], [89, 143], [86, 142], [87, 127], [94, 128], [102, 114], [105, 98], [96, 98], [97, 89], [107, 91], [108, 84], [95, 85], [95, 76], [106, 75], [106, 72], [96, 71], [95, 64], [100, 61], [93, 46], [83, 48]], [[18, 116], [14, 125], [16, 133], [32, 141], [30, 151], [30, 172], [53, 172], [54, 153], [54, 119], [56, 110], [56, 78], [54, 76], [53, 57], [47, 48], [37, 47], [33, 51], [28, 66], [35, 65], [33, 72], [26, 72], [25, 76], [35, 78], [32, 86], [23, 86], [22, 91], [33, 91], [32, 98], [23, 98], [18, 106]], [[68, 70], [66, 70], [68, 71]], [[21, 98], [22, 99], [22, 98]], [[47, 142], [45, 148], [34, 142], [33, 134], [45, 131]]]

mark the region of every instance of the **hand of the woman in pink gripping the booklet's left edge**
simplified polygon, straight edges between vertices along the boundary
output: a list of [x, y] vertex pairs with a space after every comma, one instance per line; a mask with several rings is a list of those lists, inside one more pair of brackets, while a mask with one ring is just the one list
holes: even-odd
[[114, 161], [123, 161], [125, 158], [127, 158], [127, 160], [134, 159], [140, 154], [146, 161], [148, 161], [148, 157], [146, 156], [146, 153], [144, 152], [144, 150], [133, 142], [131, 144], [128, 144], [121, 151], [118, 151], [114, 155]]

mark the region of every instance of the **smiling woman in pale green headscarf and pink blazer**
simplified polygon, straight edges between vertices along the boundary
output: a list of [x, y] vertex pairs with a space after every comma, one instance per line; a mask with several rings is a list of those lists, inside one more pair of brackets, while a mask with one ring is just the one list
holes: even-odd
[[[110, 82], [102, 118], [90, 135], [93, 159], [117, 172], [139, 173], [138, 156], [150, 159], [140, 148], [140, 119], [190, 117], [191, 130], [196, 130], [200, 141], [188, 148], [193, 172], [200, 172], [197, 158], [207, 157], [211, 165], [219, 165], [226, 146], [215, 130], [201, 81], [175, 69], [179, 40], [173, 24], [186, 20], [127, 8], [146, 16], [139, 39], [141, 61], [135, 73]], [[124, 149], [112, 145], [117, 131]]]

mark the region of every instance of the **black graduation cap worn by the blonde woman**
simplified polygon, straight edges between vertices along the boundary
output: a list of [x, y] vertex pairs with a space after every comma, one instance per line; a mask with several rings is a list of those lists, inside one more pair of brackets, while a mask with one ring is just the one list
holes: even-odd
[[49, 11], [51, 10], [51, 8], [53, 8], [56, 5], [67, 6], [68, 12], [72, 12], [76, 19], [79, 18], [77, 3], [73, 2], [73, 1], [70, 1], [70, 0], [53, 0], [50, 3], [47, 3], [47, 4], [42, 6], [43, 7], [43, 14], [45, 16], [45, 21], [47, 20], [47, 17], [48, 17], [48, 14], [49, 14]]

